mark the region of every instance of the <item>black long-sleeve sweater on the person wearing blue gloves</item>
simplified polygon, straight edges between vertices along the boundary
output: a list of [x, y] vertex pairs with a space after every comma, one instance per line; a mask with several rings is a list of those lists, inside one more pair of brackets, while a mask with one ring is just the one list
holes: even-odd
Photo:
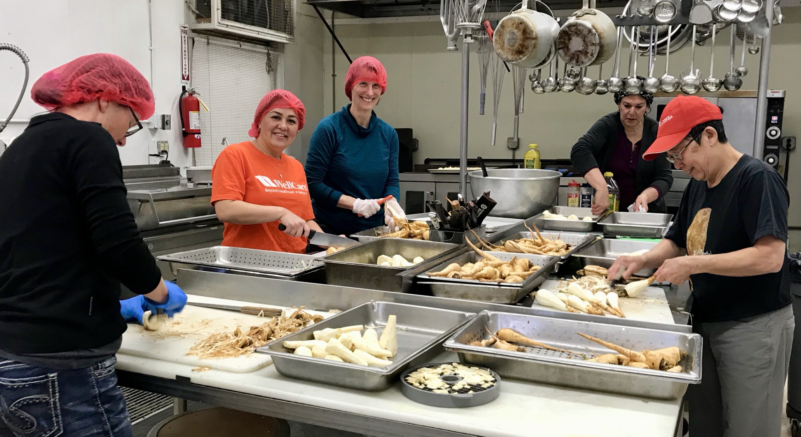
[[51, 113], [0, 155], [0, 350], [111, 343], [126, 328], [120, 283], [139, 294], [159, 284], [116, 148], [98, 123]]

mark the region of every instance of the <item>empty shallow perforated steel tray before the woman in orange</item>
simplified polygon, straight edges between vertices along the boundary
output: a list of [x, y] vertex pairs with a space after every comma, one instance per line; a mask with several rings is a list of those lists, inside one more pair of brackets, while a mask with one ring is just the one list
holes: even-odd
[[[170, 263], [170, 268], [188, 268], [209, 271], [244, 271], [278, 275], [284, 279], [297, 278], [312, 271], [320, 271], [323, 263], [315, 255], [260, 251], [244, 247], [212, 246], [194, 251], [161, 255], [159, 261]], [[201, 268], [205, 267], [205, 268]]]

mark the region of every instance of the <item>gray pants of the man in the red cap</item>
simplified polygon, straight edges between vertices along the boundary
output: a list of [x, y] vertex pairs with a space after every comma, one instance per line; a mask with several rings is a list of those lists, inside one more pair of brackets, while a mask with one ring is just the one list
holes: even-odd
[[694, 324], [702, 382], [690, 384], [690, 436], [779, 437], [795, 320], [788, 305], [729, 322]]

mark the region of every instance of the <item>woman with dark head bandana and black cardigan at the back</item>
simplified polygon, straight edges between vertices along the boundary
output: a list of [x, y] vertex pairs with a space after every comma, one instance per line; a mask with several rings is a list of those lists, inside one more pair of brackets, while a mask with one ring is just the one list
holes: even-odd
[[[645, 78], [641, 78], [645, 80]], [[609, 207], [609, 191], [603, 174], [614, 173], [620, 188], [620, 208], [634, 204], [634, 210], [665, 212], [663, 196], [673, 184], [670, 162], [664, 155], [646, 161], [642, 154], [654, 142], [658, 122], [646, 118], [654, 94], [614, 94], [618, 110], [606, 114], [578, 139], [570, 160], [595, 189], [593, 214]]]

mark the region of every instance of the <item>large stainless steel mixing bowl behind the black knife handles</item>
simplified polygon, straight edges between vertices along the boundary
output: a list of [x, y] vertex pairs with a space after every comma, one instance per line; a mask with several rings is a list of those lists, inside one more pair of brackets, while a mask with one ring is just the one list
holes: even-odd
[[477, 198], [486, 190], [497, 205], [493, 217], [528, 219], [556, 204], [559, 194], [559, 178], [562, 174], [553, 170], [524, 168], [499, 168], [468, 173], [470, 190]]

